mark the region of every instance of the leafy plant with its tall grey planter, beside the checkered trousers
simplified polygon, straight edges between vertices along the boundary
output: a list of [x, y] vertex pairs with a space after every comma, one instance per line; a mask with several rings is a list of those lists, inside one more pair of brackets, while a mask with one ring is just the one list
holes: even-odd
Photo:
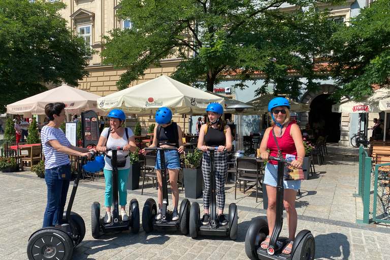
[[194, 149], [192, 153], [184, 154], [183, 179], [185, 198], [198, 199], [202, 196], [203, 175], [200, 161], [203, 153]]

